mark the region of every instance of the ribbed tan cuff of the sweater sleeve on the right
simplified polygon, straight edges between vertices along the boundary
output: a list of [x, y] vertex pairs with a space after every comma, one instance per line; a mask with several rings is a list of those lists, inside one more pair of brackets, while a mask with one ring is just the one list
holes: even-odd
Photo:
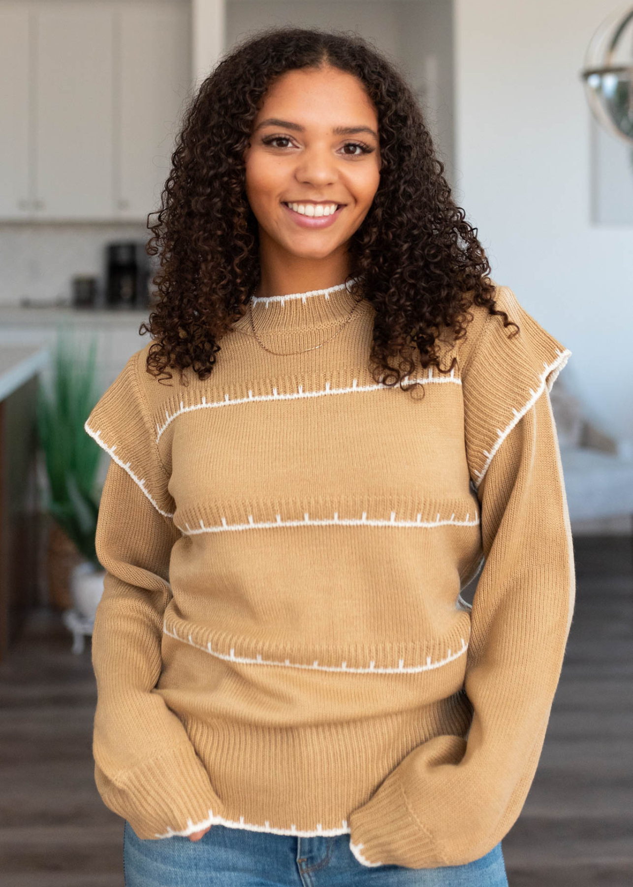
[[434, 837], [410, 812], [398, 773], [349, 817], [349, 849], [363, 866], [447, 865]]

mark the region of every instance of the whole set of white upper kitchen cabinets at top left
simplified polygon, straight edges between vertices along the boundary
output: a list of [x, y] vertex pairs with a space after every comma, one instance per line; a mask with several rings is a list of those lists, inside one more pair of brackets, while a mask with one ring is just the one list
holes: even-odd
[[0, 221], [143, 221], [191, 89], [185, 0], [0, 0]]

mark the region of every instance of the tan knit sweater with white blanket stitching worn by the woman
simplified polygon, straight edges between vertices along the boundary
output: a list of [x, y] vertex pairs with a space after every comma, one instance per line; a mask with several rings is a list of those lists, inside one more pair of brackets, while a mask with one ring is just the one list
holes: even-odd
[[376, 311], [345, 324], [340, 286], [254, 298], [284, 353], [245, 315], [206, 381], [160, 384], [146, 345], [91, 412], [95, 781], [140, 838], [348, 833], [363, 866], [431, 868], [519, 817], [574, 610], [571, 352], [495, 286], [520, 334], [473, 305], [424, 396], [374, 381]]

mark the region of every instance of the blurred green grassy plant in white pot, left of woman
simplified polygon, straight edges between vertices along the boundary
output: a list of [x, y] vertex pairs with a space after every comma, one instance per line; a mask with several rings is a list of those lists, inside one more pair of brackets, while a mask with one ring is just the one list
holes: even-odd
[[51, 380], [41, 381], [37, 400], [37, 428], [48, 488], [46, 508], [79, 555], [70, 575], [69, 593], [74, 609], [88, 622], [94, 619], [104, 577], [95, 550], [101, 450], [83, 428], [98, 400], [96, 349], [94, 338], [87, 347], [78, 348], [60, 331]]

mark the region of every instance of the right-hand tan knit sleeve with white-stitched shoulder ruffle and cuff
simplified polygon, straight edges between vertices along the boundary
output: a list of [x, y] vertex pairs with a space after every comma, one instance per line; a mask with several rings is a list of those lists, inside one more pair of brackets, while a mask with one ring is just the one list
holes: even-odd
[[350, 848], [368, 866], [460, 865], [490, 851], [525, 802], [558, 686], [575, 583], [549, 391], [570, 352], [512, 292], [503, 302], [520, 336], [486, 318], [462, 373], [486, 557], [465, 664], [473, 719], [466, 736], [412, 750], [352, 812]]

